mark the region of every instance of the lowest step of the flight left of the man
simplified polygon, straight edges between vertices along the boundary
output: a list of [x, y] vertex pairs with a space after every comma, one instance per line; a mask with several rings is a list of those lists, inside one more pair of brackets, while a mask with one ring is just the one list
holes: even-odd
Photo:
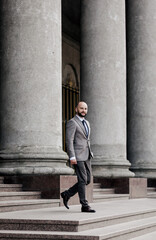
[[21, 211], [29, 209], [57, 207], [59, 199], [31, 199], [31, 200], [12, 200], [0, 201], [0, 212]]

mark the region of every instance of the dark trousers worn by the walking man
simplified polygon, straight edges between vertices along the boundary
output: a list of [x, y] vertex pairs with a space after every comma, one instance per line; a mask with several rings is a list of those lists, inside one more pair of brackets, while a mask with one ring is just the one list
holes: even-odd
[[78, 182], [65, 192], [68, 197], [72, 197], [78, 192], [80, 203], [86, 207], [88, 206], [88, 201], [86, 200], [86, 185], [91, 181], [91, 161], [90, 159], [87, 161], [78, 161], [77, 164], [74, 165], [74, 168]]

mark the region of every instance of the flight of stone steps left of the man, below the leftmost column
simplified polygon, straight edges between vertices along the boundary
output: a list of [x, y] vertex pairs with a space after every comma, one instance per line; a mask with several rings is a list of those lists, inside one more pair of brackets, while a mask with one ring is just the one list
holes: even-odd
[[40, 192], [22, 191], [21, 184], [4, 184], [0, 177], [0, 212], [59, 206], [59, 199], [41, 199]]

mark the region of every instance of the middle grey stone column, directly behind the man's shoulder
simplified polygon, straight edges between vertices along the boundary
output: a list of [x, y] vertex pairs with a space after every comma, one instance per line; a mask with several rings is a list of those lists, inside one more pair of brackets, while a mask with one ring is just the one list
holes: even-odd
[[93, 174], [130, 177], [126, 160], [125, 1], [83, 0], [81, 99], [89, 106]]

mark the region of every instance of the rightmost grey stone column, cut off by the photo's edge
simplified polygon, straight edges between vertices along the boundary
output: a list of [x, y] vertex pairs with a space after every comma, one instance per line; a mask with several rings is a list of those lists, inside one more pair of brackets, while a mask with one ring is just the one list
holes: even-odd
[[156, 1], [127, 1], [128, 159], [156, 178]]

